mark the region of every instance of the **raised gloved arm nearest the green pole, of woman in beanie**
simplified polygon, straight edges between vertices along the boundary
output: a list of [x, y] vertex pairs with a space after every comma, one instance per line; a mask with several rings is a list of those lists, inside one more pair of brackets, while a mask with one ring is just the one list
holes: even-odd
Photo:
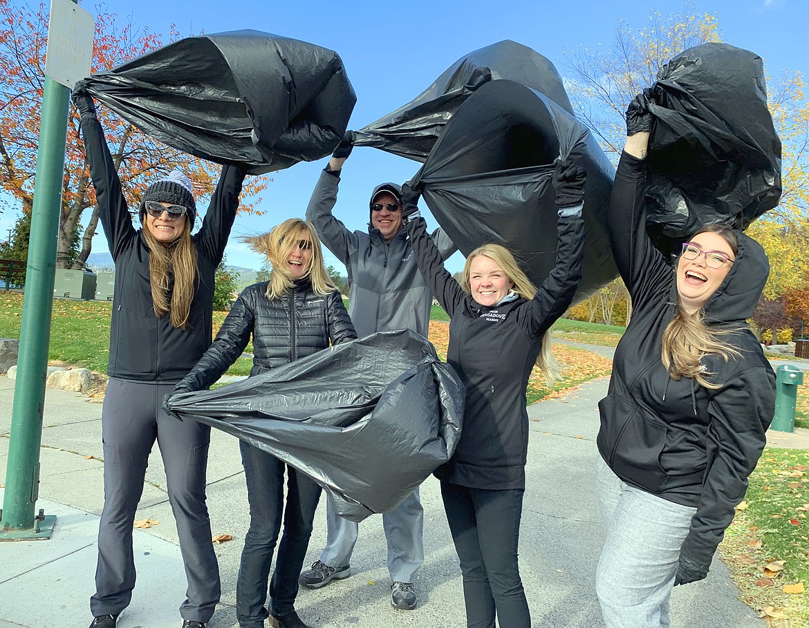
[[135, 228], [129, 216], [121, 179], [118, 178], [115, 162], [109, 152], [104, 129], [95, 116], [95, 104], [83, 82], [78, 82], [73, 91], [73, 102], [80, 116], [79, 124], [84, 139], [90, 177], [95, 188], [95, 202], [99, 205], [99, 219], [107, 236], [112, 259], [117, 259], [129, 241], [135, 237]]

